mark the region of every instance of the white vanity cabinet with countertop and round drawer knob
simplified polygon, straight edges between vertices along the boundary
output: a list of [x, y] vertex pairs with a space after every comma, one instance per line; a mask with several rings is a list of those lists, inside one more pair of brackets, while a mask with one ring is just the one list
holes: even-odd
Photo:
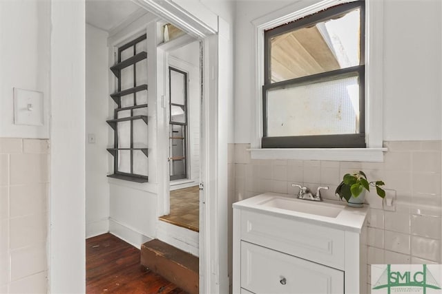
[[[287, 195], [233, 204], [233, 293], [365, 293], [367, 209], [343, 207], [329, 218], [262, 205], [275, 197]], [[356, 227], [345, 220], [356, 220]]]

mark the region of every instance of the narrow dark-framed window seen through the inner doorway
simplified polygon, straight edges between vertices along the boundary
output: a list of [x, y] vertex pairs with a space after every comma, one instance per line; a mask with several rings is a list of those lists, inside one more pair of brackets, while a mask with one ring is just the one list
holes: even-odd
[[187, 177], [187, 73], [169, 67], [170, 114], [169, 172], [171, 180]]

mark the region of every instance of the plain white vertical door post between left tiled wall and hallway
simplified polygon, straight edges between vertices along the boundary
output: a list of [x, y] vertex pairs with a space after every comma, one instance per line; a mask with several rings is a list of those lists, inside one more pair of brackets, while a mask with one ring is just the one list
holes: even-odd
[[51, 15], [49, 291], [84, 293], [84, 0], [51, 1]]

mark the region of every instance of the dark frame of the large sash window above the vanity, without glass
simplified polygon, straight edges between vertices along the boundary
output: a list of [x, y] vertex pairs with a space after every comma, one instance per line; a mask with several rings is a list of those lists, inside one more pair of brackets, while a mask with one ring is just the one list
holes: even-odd
[[[346, 14], [355, 9], [361, 10], [361, 38], [360, 38], [360, 64], [354, 67], [347, 67], [340, 70], [292, 78], [286, 81], [271, 83], [270, 71], [270, 42], [271, 38], [280, 34], [285, 34], [291, 30], [305, 28], [321, 21], [326, 21], [341, 14]], [[265, 83], [262, 85], [262, 148], [365, 148], [365, 0], [358, 0], [350, 3], [339, 4], [316, 12], [302, 19], [297, 19], [291, 23], [280, 25], [276, 28], [265, 31], [264, 44], [264, 70]], [[321, 136], [267, 136], [267, 91], [280, 89], [294, 85], [307, 85], [333, 81], [345, 76], [358, 76], [359, 78], [359, 134], [339, 134]]]

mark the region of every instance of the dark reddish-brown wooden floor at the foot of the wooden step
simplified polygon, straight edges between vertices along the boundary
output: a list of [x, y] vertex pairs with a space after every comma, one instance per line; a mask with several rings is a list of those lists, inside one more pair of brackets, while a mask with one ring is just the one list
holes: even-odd
[[86, 293], [185, 294], [140, 265], [140, 250], [106, 233], [86, 239]]

